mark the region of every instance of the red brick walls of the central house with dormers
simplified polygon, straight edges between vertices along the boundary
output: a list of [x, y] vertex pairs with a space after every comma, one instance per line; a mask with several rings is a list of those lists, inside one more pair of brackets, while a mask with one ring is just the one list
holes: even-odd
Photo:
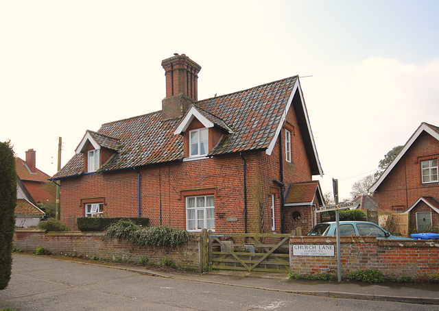
[[[296, 132], [292, 133], [292, 163], [285, 162], [285, 150], [282, 151], [286, 185], [311, 180], [294, 112], [289, 112], [287, 119], [296, 127]], [[188, 129], [198, 127], [200, 122], [195, 120]], [[185, 135], [187, 133], [189, 131]], [[209, 140], [213, 141], [216, 134], [212, 132]], [[189, 154], [187, 147], [185, 154]], [[270, 195], [275, 193], [276, 232], [281, 233], [281, 191], [272, 182], [280, 179], [278, 142], [270, 156], [265, 151], [245, 152], [242, 156], [246, 159], [247, 231], [271, 232]], [[207, 190], [209, 195], [215, 195], [215, 229], [219, 232], [245, 231], [244, 160], [239, 154], [139, 167], [137, 170], [141, 172], [141, 216], [150, 218], [150, 225], [185, 229], [185, 197], [189, 193], [206, 195]], [[62, 179], [61, 220], [71, 229], [77, 229], [75, 219], [84, 216], [84, 199], [101, 197], [104, 198], [105, 216], [139, 216], [137, 178], [133, 169], [127, 169]], [[217, 213], [222, 213], [222, 218]]]

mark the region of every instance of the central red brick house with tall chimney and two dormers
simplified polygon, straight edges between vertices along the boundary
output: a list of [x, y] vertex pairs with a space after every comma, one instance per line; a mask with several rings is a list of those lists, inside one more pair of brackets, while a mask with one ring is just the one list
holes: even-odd
[[286, 209], [284, 200], [322, 175], [298, 76], [198, 101], [198, 64], [174, 54], [162, 66], [162, 110], [86, 131], [54, 175], [61, 220], [73, 229], [81, 216], [143, 216], [195, 232], [281, 233], [297, 211], [310, 229], [324, 204], [318, 182], [311, 201]]

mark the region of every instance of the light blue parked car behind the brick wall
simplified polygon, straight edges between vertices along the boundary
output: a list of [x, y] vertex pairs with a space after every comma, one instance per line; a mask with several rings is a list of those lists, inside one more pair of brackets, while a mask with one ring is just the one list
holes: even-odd
[[[336, 226], [335, 221], [319, 223], [311, 229], [308, 236], [335, 236]], [[403, 236], [394, 236], [379, 225], [368, 221], [340, 221], [340, 236], [376, 236], [390, 240], [412, 240]]]

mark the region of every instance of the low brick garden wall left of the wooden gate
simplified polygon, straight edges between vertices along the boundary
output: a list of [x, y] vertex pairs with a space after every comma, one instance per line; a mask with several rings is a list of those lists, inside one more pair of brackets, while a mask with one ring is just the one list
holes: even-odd
[[85, 258], [97, 256], [105, 260], [131, 260], [139, 262], [147, 256], [150, 262], [160, 264], [162, 258], [169, 258], [182, 269], [202, 271], [200, 268], [200, 238], [179, 247], [136, 247], [122, 239], [102, 240], [102, 232], [44, 232], [40, 229], [16, 229], [14, 247], [25, 252], [44, 247], [53, 254], [63, 256], [82, 255]]

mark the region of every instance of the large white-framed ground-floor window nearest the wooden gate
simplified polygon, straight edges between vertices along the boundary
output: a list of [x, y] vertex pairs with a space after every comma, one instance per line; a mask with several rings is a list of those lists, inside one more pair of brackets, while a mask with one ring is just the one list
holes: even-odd
[[186, 198], [186, 229], [215, 229], [215, 199], [213, 195]]

